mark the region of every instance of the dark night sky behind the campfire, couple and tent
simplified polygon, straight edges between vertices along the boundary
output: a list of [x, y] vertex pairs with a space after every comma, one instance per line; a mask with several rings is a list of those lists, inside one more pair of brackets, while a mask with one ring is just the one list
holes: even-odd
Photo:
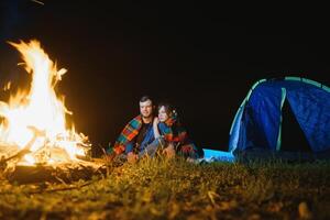
[[6, 42], [41, 41], [68, 69], [57, 91], [95, 146], [114, 142], [139, 113], [143, 95], [174, 103], [196, 144], [227, 150], [233, 117], [256, 80], [301, 76], [330, 86], [330, 37], [323, 33], [330, 25], [304, 11], [43, 2], [1, 0], [0, 86], [29, 85], [18, 52]]

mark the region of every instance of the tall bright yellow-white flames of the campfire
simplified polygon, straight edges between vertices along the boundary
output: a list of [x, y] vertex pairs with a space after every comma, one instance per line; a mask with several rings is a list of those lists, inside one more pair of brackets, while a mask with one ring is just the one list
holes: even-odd
[[[58, 69], [41, 47], [30, 41], [10, 44], [22, 55], [31, 76], [29, 89], [0, 101], [0, 158], [7, 166], [81, 164], [91, 145], [88, 138], [68, 125], [64, 97], [55, 92], [67, 72]], [[6, 88], [10, 88], [10, 82]]]

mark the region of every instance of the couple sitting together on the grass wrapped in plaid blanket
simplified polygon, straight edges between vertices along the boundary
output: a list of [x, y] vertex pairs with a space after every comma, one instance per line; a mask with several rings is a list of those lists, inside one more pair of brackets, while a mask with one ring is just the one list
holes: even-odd
[[189, 161], [201, 157], [200, 151], [188, 139], [175, 109], [168, 103], [158, 105], [158, 116], [150, 97], [140, 99], [140, 116], [132, 119], [117, 139], [112, 148], [114, 158], [136, 162], [156, 153], [167, 157], [183, 156]]

